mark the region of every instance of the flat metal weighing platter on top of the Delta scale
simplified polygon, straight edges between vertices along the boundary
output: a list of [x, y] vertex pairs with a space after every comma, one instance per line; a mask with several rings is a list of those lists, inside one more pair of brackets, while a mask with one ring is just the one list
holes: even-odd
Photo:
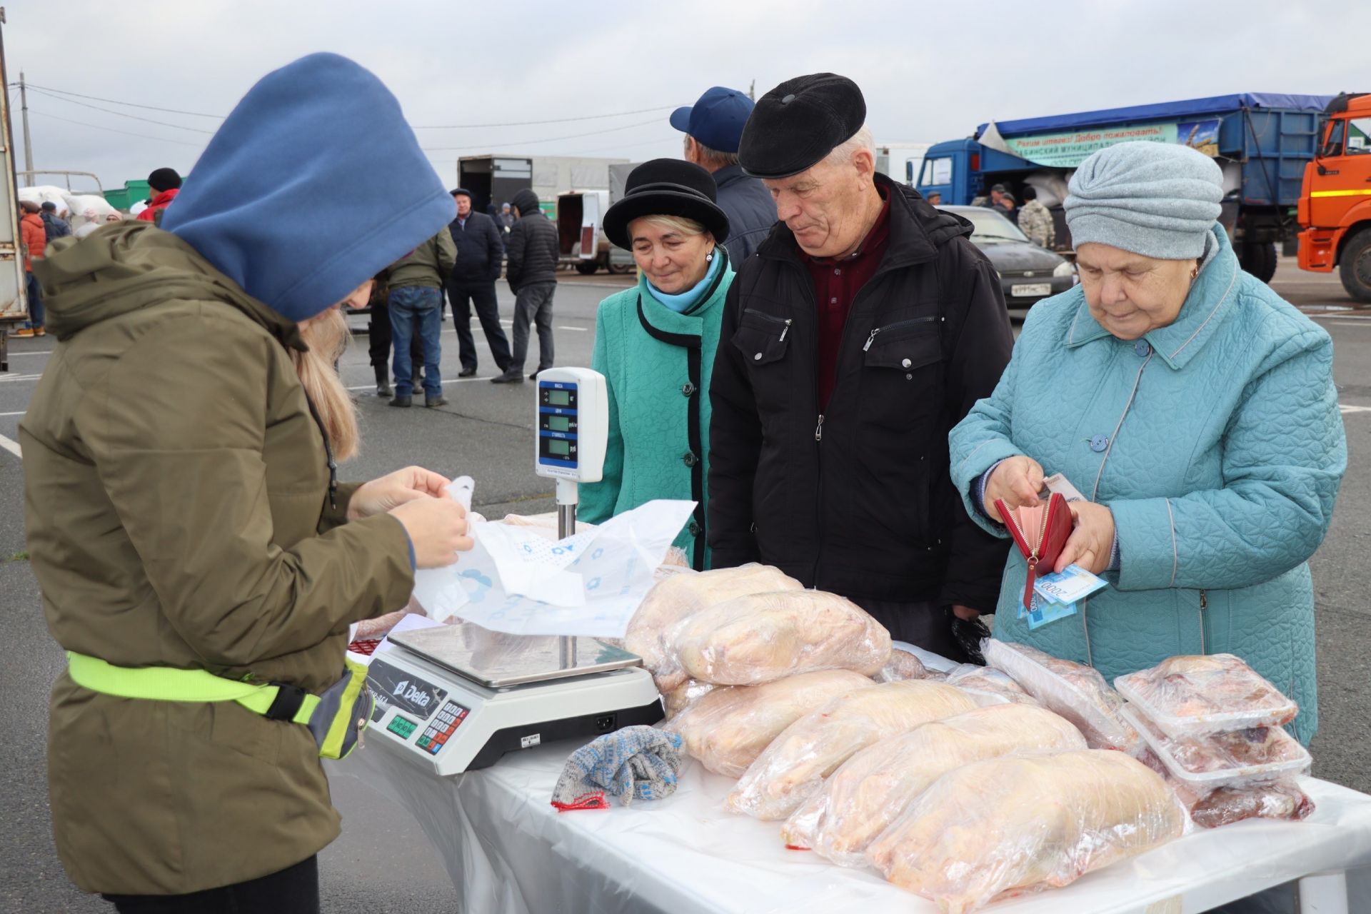
[[587, 637], [506, 634], [474, 622], [399, 632], [391, 641], [492, 689], [642, 666], [636, 654]]

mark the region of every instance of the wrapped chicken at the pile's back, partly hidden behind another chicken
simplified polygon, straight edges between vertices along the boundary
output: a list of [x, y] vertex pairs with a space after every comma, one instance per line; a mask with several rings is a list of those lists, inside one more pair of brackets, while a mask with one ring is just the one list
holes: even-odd
[[628, 622], [624, 647], [643, 658], [662, 695], [690, 677], [662, 643], [677, 622], [717, 603], [747, 593], [799, 591], [803, 585], [769, 565], [743, 565], [698, 574], [673, 574], [658, 581]]

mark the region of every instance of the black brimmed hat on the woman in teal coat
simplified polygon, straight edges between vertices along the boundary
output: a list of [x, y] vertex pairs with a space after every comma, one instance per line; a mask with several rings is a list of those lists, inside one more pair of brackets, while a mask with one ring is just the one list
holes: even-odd
[[728, 217], [714, 203], [717, 197], [714, 175], [692, 162], [644, 162], [628, 173], [624, 196], [605, 211], [605, 236], [631, 251], [629, 222], [644, 215], [675, 215], [699, 222], [721, 243], [728, 237]]

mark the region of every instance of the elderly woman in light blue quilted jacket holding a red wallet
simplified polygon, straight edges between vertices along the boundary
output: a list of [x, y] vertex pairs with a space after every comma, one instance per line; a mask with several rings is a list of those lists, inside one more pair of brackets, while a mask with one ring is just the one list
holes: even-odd
[[1030, 311], [994, 395], [950, 436], [953, 481], [987, 530], [1045, 473], [1084, 496], [1057, 570], [1112, 586], [1030, 630], [1010, 551], [995, 634], [1106, 678], [1176, 654], [1237, 654], [1318, 726], [1307, 559], [1346, 469], [1333, 343], [1243, 273], [1216, 225], [1223, 181], [1179, 145], [1082, 163], [1065, 201], [1080, 285]]

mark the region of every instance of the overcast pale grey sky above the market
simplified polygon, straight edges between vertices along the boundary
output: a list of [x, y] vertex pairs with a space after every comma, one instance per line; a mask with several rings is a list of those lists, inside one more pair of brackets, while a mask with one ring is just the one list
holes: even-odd
[[[821, 70], [862, 88], [877, 143], [934, 143], [988, 119], [1233, 92], [1371, 90], [1364, 0], [1222, 7], [11, 0], [4, 7], [11, 84], [23, 70], [34, 86], [185, 112], [225, 115], [259, 77], [295, 58], [347, 55], [400, 99], [446, 182], [455, 181], [459, 155], [679, 156], [669, 107], [712, 85], [747, 89], [755, 81], [762, 95]], [[22, 169], [16, 89], [11, 100]], [[197, 130], [218, 125], [214, 116], [53, 97], [37, 88], [29, 114], [34, 167], [95, 171], [107, 189], [159, 166], [189, 171], [210, 136]], [[617, 116], [592, 118], [606, 114]], [[592, 119], [428, 129], [561, 118]]]

